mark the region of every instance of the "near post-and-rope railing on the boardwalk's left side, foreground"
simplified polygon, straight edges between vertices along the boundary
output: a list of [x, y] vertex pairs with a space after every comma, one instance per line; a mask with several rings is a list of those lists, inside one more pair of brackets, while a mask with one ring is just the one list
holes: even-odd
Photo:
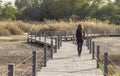
[[[50, 48], [50, 58], [53, 58], [53, 47]], [[17, 65], [14, 63], [10, 63], [8, 65], [8, 71], [2, 74], [2, 76], [36, 76], [37, 69], [40, 69], [40, 67], [47, 66], [47, 60], [48, 60], [48, 45], [45, 44], [44, 48], [42, 49], [44, 51], [43, 55], [39, 55], [37, 51], [33, 51], [32, 55], [29, 56], [28, 58], [24, 59]], [[39, 55], [39, 56], [37, 56]], [[40, 60], [43, 60], [43, 62], [40, 62]], [[29, 63], [25, 69], [20, 69], [22, 72], [19, 74], [16, 73], [19, 67], [25, 67], [24, 64]]]

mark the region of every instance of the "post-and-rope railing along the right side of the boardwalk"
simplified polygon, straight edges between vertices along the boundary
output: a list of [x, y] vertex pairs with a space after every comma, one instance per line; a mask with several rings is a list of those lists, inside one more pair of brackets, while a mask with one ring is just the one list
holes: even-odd
[[97, 42], [89, 37], [86, 46], [89, 53], [92, 54], [92, 59], [96, 59], [97, 68], [104, 71], [104, 76], [119, 76], [120, 75], [120, 54], [119, 50], [111, 50], [112, 48], [104, 42]]

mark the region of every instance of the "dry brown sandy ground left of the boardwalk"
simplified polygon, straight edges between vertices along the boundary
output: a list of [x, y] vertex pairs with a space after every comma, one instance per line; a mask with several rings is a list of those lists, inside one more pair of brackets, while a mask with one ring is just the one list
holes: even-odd
[[[14, 39], [16, 39], [16, 41], [14, 41]], [[4, 76], [7, 76], [9, 63], [14, 63], [14, 65], [17, 66], [23, 60], [32, 57], [32, 51], [37, 51], [37, 68], [40, 69], [40, 66], [43, 64], [43, 45], [27, 43], [26, 39], [27, 35], [0, 37], [0, 76], [5, 73], [6, 75]], [[49, 58], [49, 51], [47, 53]], [[15, 75], [29, 76], [32, 72], [31, 66], [32, 58], [15, 67]], [[29, 69], [29, 71], [27, 69]], [[25, 74], [21, 75], [24, 72]]]

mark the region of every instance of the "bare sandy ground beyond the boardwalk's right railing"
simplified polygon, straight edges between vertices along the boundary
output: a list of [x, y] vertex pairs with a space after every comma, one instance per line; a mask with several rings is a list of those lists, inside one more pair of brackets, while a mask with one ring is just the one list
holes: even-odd
[[109, 60], [120, 67], [120, 37], [101, 37], [93, 41], [100, 46], [101, 55], [108, 52]]

